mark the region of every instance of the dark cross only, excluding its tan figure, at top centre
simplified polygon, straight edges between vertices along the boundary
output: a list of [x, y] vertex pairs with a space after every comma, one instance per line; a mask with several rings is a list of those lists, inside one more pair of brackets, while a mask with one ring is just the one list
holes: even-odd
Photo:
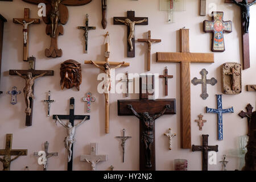
[[[134, 24], [134, 32], [131, 31], [131, 27], [129, 24], [125, 24], [122, 22], [118, 22], [119, 20], [125, 20], [130, 19], [132, 22], [137, 22], [143, 19], [146, 19], [146, 21], [142, 23], [135, 23]], [[125, 24], [127, 25], [127, 39], [131, 36], [131, 42], [133, 45], [133, 50], [131, 50], [131, 46], [129, 45], [129, 42], [127, 42], [127, 57], [135, 57], [135, 25], [147, 25], [148, 24], [148, 18], [147, 17], [135, 17], [135, 11], [127, 11], [127, 17], [114, 17], [114, 24]]]

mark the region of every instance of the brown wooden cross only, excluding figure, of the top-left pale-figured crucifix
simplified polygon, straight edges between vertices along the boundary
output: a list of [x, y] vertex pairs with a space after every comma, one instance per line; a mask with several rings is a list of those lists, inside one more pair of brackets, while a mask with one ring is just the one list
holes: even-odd
[[[24, 8], [24, 18], [14, 18], [13, 23], [19, 23], [17, 20], [21, 23], [23, 23], [23, 20], [26, 23], [32, 22], [33, 20], [34, 20], [33, 24], [34, 23], [36, 23], [36, 24], [40, 23], [40, 19], [30, 18], [30, 9], [28, 9], [28, 8]], [[29, 35], [28, 27], [29, 27], [29, 24], [27, 25], [27, 29], [24, 29], [24, 27], [23, 27], [23, 34], [24, 34], [24, 31], [27, 32], [27, 43], [26, 44], [24, 44], [24, 36], [23, 36], [23, 61], [28, 61], [28, 37], [29, 37], [28, 36]]]

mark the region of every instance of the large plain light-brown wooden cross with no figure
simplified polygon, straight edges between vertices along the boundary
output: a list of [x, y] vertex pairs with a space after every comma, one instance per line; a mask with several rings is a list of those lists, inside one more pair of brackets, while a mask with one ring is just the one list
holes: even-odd
[[181, 148], [191, 148], [190, 63], [214, 63], [214, 55], [189, 52], [189, 30], [180, 29], [180, 52], [156, 52], [156, 62], [180, 63], [180, 141]]

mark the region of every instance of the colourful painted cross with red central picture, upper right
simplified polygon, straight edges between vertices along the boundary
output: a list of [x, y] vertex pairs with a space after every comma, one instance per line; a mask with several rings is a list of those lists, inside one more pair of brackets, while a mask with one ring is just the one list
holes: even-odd
[[212, 21], [204, 20], [204, 32], [212, 32], [212, 51], [224, 52], [224, 33], [232, 32], [232, 22], [224, 22], [222, 11], [213, 11], [212, 15]]

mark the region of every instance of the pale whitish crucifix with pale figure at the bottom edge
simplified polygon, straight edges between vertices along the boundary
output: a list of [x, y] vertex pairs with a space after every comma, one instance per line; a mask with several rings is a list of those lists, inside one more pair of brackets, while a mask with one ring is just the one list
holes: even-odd
[[90, 143], [90, 155], [81, 155], [80, 161], [89, 163], [92, 171], [96, 171], [96, 164], [99, 162], [106, 162], [107, 155], [97, 155], [97, 143]]

